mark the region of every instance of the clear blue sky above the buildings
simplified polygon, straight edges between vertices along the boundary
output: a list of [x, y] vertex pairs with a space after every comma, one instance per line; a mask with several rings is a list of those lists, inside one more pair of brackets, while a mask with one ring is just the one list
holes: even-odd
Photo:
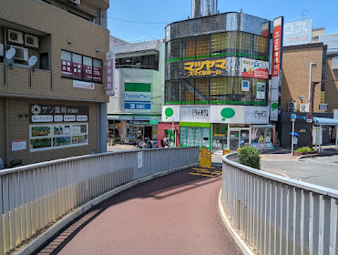
[[[276, 3], [280, 2], [281, 5]], [[128, 42], [164, 38], [164, 27], [172, 21], [187, 19], [190, 0], [110, 0], [108, 29], [110, 35]], [[285, 22], [312, 18], [312, 28], [325, 27], [325, 34], [338, 33], [337, 0], [224, 1], [220, 13], [240, 12], [272, 20], [284, 15]], [[122, 19], [129, 22], [123, 22]], [[131, 22], [130, 22], [131, 21]], [[134, 23], [135, 22], [135, 23]], [[143, 24], [159, 23], [159, 24]]]

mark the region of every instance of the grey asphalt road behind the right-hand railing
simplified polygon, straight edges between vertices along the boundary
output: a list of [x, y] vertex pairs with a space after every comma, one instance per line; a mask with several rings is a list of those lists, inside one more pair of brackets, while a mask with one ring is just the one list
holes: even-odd
[[338, 155], [296, 159], [262, 158], [261, 169], [338, 189]]

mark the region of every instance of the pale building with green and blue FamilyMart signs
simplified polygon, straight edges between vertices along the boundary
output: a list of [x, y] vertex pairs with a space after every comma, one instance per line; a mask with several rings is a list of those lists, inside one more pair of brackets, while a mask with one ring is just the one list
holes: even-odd
[[164, 94], [165, 46], [160, 40], [128, 44], [111, 36], [116, 56], [115, 95], [108, 104], [109, 137], [133, 144], [157, 138]]

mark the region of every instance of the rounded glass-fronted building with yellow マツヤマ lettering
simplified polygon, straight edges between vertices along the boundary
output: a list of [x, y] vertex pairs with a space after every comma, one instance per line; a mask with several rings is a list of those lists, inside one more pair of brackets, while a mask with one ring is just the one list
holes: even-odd
[[182, 147], [271, 148], [270, 27], [270, 21], [243, 13], [166, 26], [159, 138], [175, 133], [172, 143]]

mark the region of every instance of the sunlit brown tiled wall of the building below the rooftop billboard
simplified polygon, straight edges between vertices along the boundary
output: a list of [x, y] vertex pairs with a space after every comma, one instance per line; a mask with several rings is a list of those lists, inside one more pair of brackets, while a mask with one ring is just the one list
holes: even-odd
[[[288, 111], [288, 102], [297, 102], [299, 111], [301, 100], [298, 96], [306, 96], [303, 103], [309, 100], [310, 63], [312, 67], [312, 81], [322, 80], [323, 44], [316, 44], [308, 48], [289, 46], [283, 48], [282, 56], [282, 111]], [[317, 85], [314, 94], [314, 112], [318, 112], [321, 100], [321, 86]]]

